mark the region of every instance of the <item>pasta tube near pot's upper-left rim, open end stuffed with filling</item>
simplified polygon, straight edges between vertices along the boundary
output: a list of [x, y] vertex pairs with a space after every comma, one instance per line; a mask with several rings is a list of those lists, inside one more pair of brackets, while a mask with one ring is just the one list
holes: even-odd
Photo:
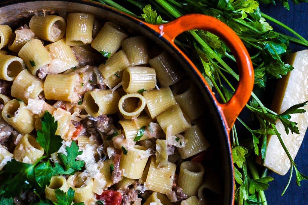
[[35, 36], [51, 42], [59, 41], [66, 31], [64, 19], [55, 15], [34, 15], [29, 27]]

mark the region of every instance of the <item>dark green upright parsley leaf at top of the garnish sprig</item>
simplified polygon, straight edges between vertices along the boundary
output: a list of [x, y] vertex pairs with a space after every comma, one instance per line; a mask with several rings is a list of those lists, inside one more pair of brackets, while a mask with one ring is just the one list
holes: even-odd
[[62, 146], [61, 136], [56, 135], [58, 121], [48, 112], [45, 111], [42, 117], [42, 130], [37, 131], [36, 141], [44, 148], [46, 155], [57, 152]]

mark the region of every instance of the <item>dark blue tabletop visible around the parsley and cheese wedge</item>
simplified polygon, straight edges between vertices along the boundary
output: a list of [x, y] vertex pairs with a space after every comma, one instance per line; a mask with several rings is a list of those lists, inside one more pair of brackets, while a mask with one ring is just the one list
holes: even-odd
[[[289, 26], [298, 34], [302, 35], [305, 39], [308, 39], [308, 3], [301, 3], [298, 5], [294, 5], [291, 0], [289, 0], [290, 10], [286, 10], [281, 6], [281, 4], [277, 5], [260, 5], [260, 10], [262, 13], [267, 14], [285, 25]], [[275, 31], [292, 35], [288, 33], [285, 29], [275, 25], [273, 22], [270, 22], [270, 25], [274, 28]], [[290, 49], [293, 52], [308, 49], [308, 47], [299, 46], [296, 44], [290, 44]], [[308, 72], [308, 69], [307, 69]], [[308, 92], [308, 91], [307, 91]], [[308, 119], [307, 119], [308, 120]], [[297, 168], [303, 174], [308, 175], [308, 132], [306, 132], [303, 143], [298, 151], [298, 154], [295, 158], [295, 163], [297, 164]], [[287, 184], [289, 179], [290, 171], [284, 175], [278, 175], [273, 172], [268, 173], [269, 176], [274, 178], [273, 181], [270, 182], [270, 186], [268, 190], [265, 191], [265, 196], [269, 205], [272, 204], [308, 204], [308, 181], [301, 181], [302, 186], [296, 185], [295, 173], [293, 173], [292, 181], [290, 183], [289, 188], [286, 193], [281, 196], [281, 193], [284, 187]]]

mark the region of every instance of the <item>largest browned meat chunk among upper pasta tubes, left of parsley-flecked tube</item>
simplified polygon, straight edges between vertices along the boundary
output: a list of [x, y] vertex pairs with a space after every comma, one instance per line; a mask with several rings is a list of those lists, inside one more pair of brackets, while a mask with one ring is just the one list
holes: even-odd
[[73, 53], [75, 55], [76, 60], [78, 61], [79, 66], [83, 67], [86, 65], [99, 65], [99, 59], [102, 59], [102, 55], [100, 55], [95, 49], [93, 49], [90, 45], [85, 46], [72, 46]]

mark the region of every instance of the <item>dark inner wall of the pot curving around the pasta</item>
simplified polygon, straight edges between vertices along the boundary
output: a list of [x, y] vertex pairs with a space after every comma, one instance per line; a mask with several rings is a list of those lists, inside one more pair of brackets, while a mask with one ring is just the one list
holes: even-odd
[[[144, 35], [149, 39], [155, 41], [160, 47], [172, 54], [172, 56], [182, 66], [183, 72], [185, 72], [191, 80], [193, 80], [198, 88], [199, 93], [203, 97], [205, 112], [203, 114], [201, 128], [205, 137], [211, 144], [209, 150], [209, 159], [206, 158], [205, 167], [214, 168], [217, 175], [205, 176], [210, 178], [211, 183], [221, 192], [221, 196], [215, 196], [220, 198], [218, 201], [221, 204], [233, 203], [233, 168], [230, 151], [229, 134], [226, 131], [225, 124], [223, 123], [221, 113], [218, 111], [217, 105], [211, 95], [210, 91], [206, 89], [204, 82], [200, 79], [197, 73], [194, 71], [192, 65], [185, 60], [183, 56], [163, 37], [160, 37], [158, 33], [153, 31], [142, 22], [131, 18], [126, 14], [122, 14], [111, 8], [101, 6], [94, 2], [85, 1], [8, 1], [2, 4], [0, 8], [0, 24], [8, 24], [10, 26], [19, 25], [18, 22], [23, 18], [27, 18], [34, 14], [46, 13], [53, 14], [60, 12], [78, 12], [93, 14], [97, 18], [101, 18], [103, 21], [115, 22], [128, 31], [133, 31], [138, 35]], [[0, 5], [1, 6], [1, 5]], [[210, 186], [209, 186], [210, 187]], [[211, 192], [205, 190], [205, 194], [210, 196]], [[212, 198], [215, 198], [212, 197]], [[210, 197], [211, 198], [211, 197]], [[216, 199], [213, 199], [214, 201]]]

